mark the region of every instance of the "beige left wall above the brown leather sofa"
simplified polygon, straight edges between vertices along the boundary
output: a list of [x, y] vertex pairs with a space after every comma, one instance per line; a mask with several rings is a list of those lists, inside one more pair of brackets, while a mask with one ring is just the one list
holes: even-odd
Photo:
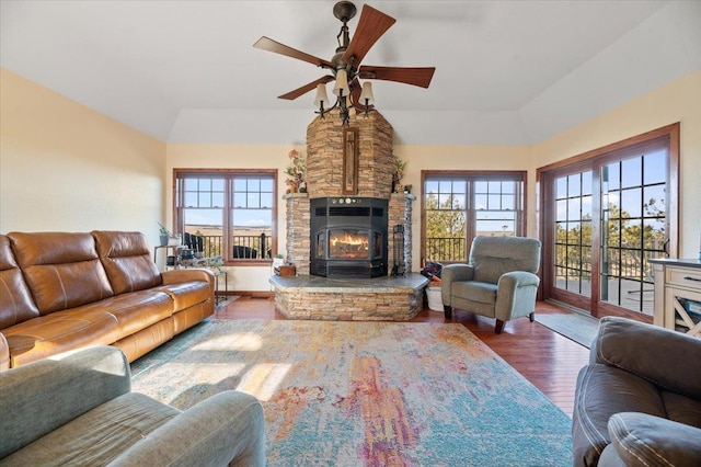
[[0, 115], [0, 232], [119, 229], [158, 240], [163, 143], [5, 69]]

